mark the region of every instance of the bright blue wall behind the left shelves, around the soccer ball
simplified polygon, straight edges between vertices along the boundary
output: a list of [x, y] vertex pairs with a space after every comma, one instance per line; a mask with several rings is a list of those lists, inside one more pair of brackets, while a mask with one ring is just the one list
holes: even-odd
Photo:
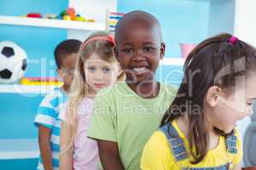
[[[0, 15], [20, 16], [31, 12], [60, 14], [68, 0], [1, 0]], [[0, 41], [13, 41], [26, 50], [26, 77], [48, 77], [55, 72], [54, 48], [67, 39], [67, 30], [0, 25]], [[37, 138], [33, 121], [42, 95], [0, 94], [0, 139]], [[38, 159], [0, 160], [0, 169], [35, 169]]]

